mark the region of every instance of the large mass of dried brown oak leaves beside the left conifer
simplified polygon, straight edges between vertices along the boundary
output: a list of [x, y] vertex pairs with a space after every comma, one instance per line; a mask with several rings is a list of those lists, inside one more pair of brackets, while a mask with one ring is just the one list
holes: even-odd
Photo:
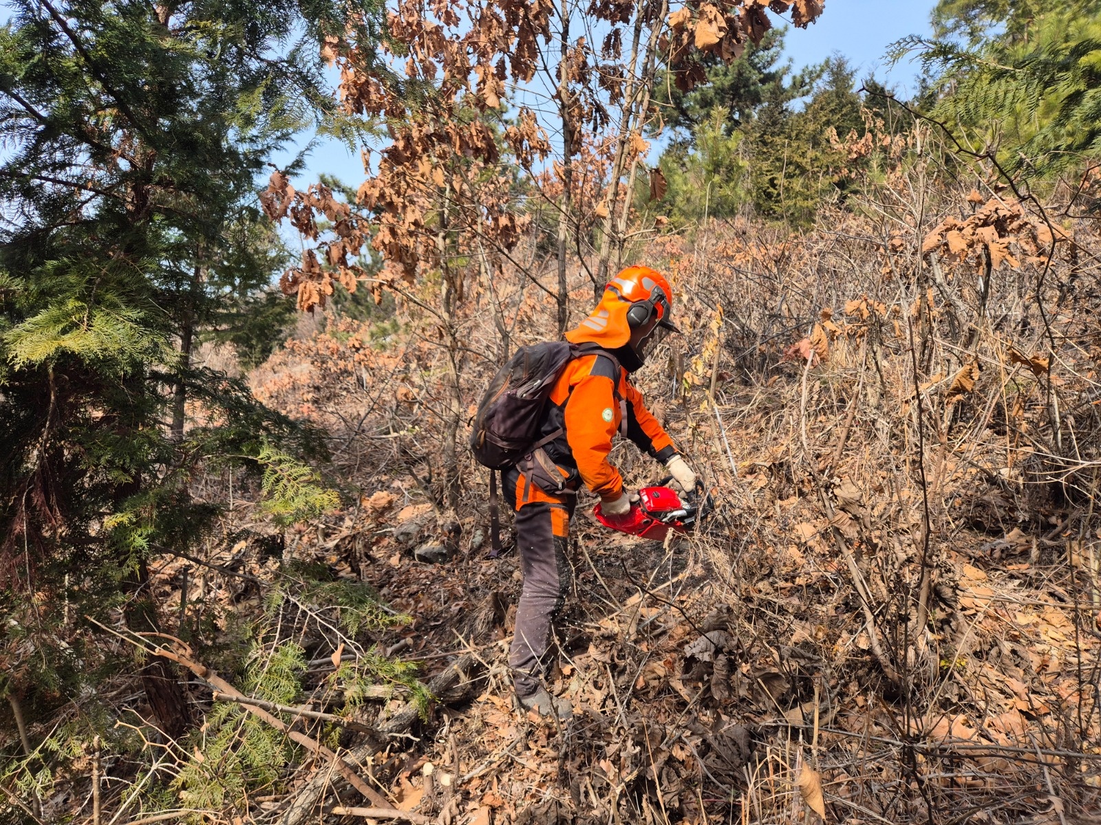
[[[405, 79], [357, 44], [328, 37], [321, 53], [340, 67], [345, 111], [385, 118], [391, 142], [373, 175], [364, 155], [370, 176], [357, 193], [358, 210], [334, 206], [324, 187], [296, 193], [276, 173], [264, 194], [269, 216], [288, 216], [316, 241], [313, 216], [324, 212], [338, 238], [319, 241], [318, 248], [330, 266], [338, 267], [341, 283], [362, 277], [342, 262], [370, 239], [386, 262], [373, 280], [375, 300], [384, 284], [413, 283], [418, 268], [446, 270], [456, 256], [479, 256], [500, 267], [502, 254], [515, 246], [530, 218], [517, 209], [513, 169], [501, 162], [501, 144], [479, 112], [501, 105], [510, 77], [516, 82], [532, 79], [537, 37], [548, 34], [552, 10], [545, 0], [403, 0], [390, 13], [384, 46], [394, 57], [406, 58]], [[550, 150], [526, 109], [503, 139], [523, 168]], [[308, 310], [324, 305], [331, 280], [316, 256], [306, 253], [303, 265], [286, 273], [283, 287], [288, 294], [297, 292], [298, 307]], [[461, 290], [458, 279], [455, 286]]]

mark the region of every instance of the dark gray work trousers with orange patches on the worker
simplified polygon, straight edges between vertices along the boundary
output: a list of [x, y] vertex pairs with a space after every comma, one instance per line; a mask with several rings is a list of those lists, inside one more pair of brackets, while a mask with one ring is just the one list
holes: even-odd
[[525, 501], [524, 481], [519, 473], [505, 474], [505, 496], [516, 510], [516, 550], [524, 575], [509, 650], [519, 696], [530, 696], [538, 689], [550, 663], [550, 626], [573, 584], [566, 549], [576, 502], [576, 496], [548, 496], [534, 486], [527, 488]]

